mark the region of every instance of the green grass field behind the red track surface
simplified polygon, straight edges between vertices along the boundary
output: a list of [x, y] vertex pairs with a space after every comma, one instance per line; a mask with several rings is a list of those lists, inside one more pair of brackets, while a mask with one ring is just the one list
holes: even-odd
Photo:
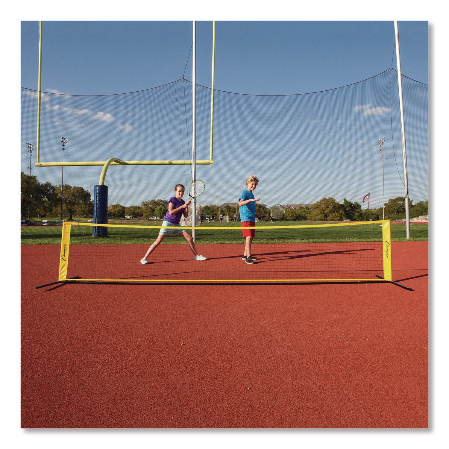
[[[81, 220], [79, 220], [81, 221]], [[84, 220], [84, 221], [87, 221]], [[158, 221], [158, 225], [161, 225]], [[70, 243], [73, 244], [151, 244], [158, 234], [158, 228], [145, 228], [154, 226], [154, 221], [140, 220], [109, 220], [109, 224], [133, 225], [136, 228], [108, 228], [107, 238], [92, 237], [91, 226], [72, 226]], [[338, 226], [317, 228], [276, 229], [276, 226], [311, 225], [310, 222], [280, 221], [259, 222], [256, 226], [267, 229], [256, 229], [254, 243], [284, 243], [284, 242], [369, 242], [381, 241], [382, 229], [378, 223], [360, 226]], [[220, 229], [212, 229], [220, 228]], [[273, 228], [273, 229], [270, 229]], [[61, 243], [61, 225], [48, 226], [21, 226], [22, 245], [59, 245]], [[391, 225], [392, 241], [407, 241], [405, 224]], [[191, 230], [189, 230], [191, 233]], [[427, 224], [410, 225], [410, 241], [427, 241], [429, 239], [429, 226]], [[179, 237], [165, 238], [163, 244], [184, 243], [185, 239]], [[196, 230], [197, 243], [242, 243], [240, 223], [202, 223]]]

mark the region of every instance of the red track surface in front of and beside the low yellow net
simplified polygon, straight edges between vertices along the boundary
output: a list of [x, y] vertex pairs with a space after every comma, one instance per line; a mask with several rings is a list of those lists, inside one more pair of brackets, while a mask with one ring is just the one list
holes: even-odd
[[[22, 246], [24, 428], [426, 428], [428, 245], [393, 284], [56, 285]], [[242, 261], [243, 264], [243, 261]]]

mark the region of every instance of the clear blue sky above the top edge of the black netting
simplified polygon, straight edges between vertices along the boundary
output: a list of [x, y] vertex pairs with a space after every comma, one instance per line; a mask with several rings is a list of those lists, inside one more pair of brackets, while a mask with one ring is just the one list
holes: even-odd
[[[21, 86], [37, 88], [38, 22], [22, 22]], [[428, 84], [428, 24], [399, 25], [403, 74]], [[393, 60], [393, 21], [217, 21], [215, 88], [281, 95], [369, 78]], [[211, 85], [211, 22], [197, 22], [197, 83]], [[42, 88], [132, 92], [192, 78], [192, 22], [44, 22]]]

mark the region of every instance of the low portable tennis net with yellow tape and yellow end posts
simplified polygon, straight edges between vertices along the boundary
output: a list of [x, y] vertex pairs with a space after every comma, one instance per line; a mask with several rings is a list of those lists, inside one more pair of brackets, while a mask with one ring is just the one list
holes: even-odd
[[[107, 226], [108, 237], [92, 236], [94, 226]], [[160, 228], [64, 222], [57, 282], [393, 282], [390, 220], [256, 226], [251, 248], [255, 264], [243, 260], [239, 224], [203, 224], [195, 228], [195, 246], [207, 260], [194, 260], [185, 238], [173, 236], [142, 265]]]

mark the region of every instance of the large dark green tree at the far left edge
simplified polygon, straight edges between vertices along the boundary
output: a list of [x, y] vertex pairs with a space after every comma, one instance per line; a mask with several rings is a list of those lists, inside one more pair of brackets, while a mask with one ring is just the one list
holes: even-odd
[[[61, 197], [60, 197], [61, 198]], [[20, 173], [20, 216], [46, 216], [57, 203], [56, 188], [40, 183], [36, 176]]]

